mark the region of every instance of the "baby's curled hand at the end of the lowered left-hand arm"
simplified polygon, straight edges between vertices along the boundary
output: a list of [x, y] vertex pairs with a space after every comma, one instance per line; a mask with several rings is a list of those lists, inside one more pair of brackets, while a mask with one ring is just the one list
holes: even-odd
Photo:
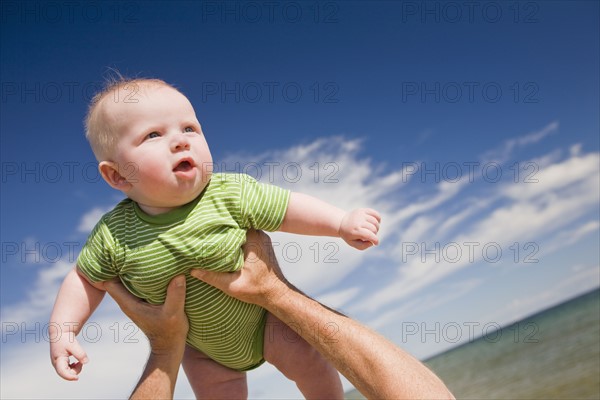
[[[50, 342], [50, 359], [56, 373], [68, 381], [79, 379], [79, 373], [83, 364], [88, 362], [87, 354], [79, 345], [73, 332], [60, 332], [57, 338], [52, 338]], [[70, 362], [69, 357], [75, 358], [75, 362]]]

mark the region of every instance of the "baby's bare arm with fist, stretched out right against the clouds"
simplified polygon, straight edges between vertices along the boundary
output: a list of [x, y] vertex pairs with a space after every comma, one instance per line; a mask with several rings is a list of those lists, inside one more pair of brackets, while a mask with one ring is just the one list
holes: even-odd
[[282, 232], [341, 237], [350, 246], [364, 250], [379, 244], [381, 217], [370, 208], [345, 212], [312, 196], [292, 192], [279, 228]]

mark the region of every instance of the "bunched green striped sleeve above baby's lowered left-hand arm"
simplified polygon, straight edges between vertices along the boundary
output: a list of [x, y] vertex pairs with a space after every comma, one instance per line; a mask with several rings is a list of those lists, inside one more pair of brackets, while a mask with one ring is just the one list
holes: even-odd
[[90, 233], [77, 257], [77, 267], [92, 282], [117, 276], [114, 268], [114, 240], [103, 217]]

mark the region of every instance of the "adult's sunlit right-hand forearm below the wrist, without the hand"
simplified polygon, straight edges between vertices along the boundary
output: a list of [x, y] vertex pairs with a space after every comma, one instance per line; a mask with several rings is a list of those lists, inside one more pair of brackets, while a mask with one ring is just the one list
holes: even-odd
[[381, 335], [295, 289], [282, 292], [262, 306], [312, 344], [367, 398], [453, 398], [425, 365]]

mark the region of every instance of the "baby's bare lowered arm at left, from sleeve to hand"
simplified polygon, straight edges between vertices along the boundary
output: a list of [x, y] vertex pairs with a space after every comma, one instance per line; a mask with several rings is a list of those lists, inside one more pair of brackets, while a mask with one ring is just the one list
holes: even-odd
[[[65, 277], [54, 303], [48, 324], [50, 359], [56, 373], [68, 381], [78, 380], [83, 364], [88, 362], [75, 336], [106, 293], [99, 287], [92, 286], [75, 267]], [[71, 356], [75, 362], [70, 362]]]

